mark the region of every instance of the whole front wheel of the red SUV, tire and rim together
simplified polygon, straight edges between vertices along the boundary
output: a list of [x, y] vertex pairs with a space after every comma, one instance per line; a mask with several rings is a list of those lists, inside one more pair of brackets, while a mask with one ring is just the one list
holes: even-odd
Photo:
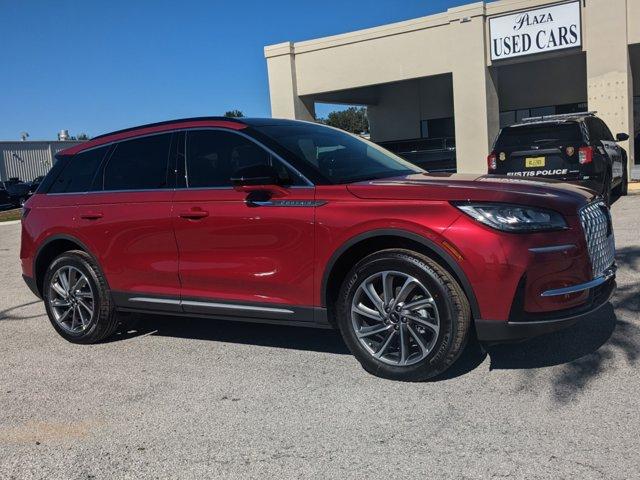
[[[383, 281], [391, 294], [384, 294]], [[365, 290], [369, 284], [377, 304]], [[336, 311], [342, 338], [362, 367], [391, 380], [424, 381], [443, 373], [470, 332], [469, 302], [460, 285], [436, 261], [410, 250], [383, 250], [359, 261], [342, 284]]]

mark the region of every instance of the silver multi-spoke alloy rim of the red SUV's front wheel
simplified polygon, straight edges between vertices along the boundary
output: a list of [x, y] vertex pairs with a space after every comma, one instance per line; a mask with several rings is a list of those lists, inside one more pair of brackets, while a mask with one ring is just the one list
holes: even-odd
[[351, 323], [365, 350], [396, 366], [424, 359], [440, 332], [438, 307], [429, 290], [418, 279], [397, 271], [376, 273], [358, 286]]

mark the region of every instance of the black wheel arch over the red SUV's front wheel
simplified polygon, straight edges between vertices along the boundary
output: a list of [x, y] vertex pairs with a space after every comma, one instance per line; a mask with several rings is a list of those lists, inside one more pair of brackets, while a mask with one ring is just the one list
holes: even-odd
[[[331, 256], [322, 275], [320, 299], [322, 306], [333, 308], [344, 276], [353, 265], [366, 255], [384, 248], [408, 248], [438, 261], [458, 281], [464, 291], [473, 318], [480, 318], [480, 308], [471, 283], [458, 263], [433, 241], [412, 232], [398, 229], [373, 230], [352, 237]], [[332, 315], [329, 315], [332, 318]]]

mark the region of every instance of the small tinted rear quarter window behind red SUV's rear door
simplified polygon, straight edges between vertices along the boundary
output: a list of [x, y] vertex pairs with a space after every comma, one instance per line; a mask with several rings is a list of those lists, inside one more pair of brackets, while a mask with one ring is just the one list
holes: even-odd
[[55, 179], [49, 193], [90, 191], [96, 172], [108, 151], [109, 147], [100, 147], [75, 155]]

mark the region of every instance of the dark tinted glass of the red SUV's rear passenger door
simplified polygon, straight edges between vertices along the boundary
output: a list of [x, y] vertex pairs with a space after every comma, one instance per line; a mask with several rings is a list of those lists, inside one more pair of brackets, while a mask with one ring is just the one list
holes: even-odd
[[171, 133], [118, 143], [104, 169], [104, 190], [156, 190], [169, 185]]

